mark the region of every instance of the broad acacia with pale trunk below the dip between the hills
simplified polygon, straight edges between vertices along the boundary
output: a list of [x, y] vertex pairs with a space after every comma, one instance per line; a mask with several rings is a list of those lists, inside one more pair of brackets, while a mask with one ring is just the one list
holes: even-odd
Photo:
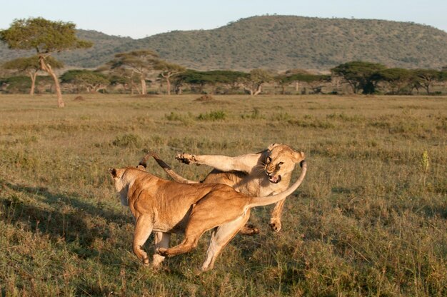
[[109, 61], [111, 70], [130, 69], [140, 77], [141, 94], [147, 93], [146, 77], [149, 72], [154, 70], [157, 64], [158, 54], [155, 51], [141, 49], [138, 51], [129, 51], [126, 53], [115, 54], [115, 59]]

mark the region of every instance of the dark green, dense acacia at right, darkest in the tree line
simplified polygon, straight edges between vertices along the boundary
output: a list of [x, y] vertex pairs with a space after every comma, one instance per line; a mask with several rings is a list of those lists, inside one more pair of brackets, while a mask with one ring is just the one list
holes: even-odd
[[382, 64], [353, 61], [338, 65], [331, 69], [331, 72], [342, 77], [351, 86], [354, 94], [360, 90], [363, 94], [373, 94], [377, 84], [377, 81], [373, 80], [373, 74], [385, 68]]

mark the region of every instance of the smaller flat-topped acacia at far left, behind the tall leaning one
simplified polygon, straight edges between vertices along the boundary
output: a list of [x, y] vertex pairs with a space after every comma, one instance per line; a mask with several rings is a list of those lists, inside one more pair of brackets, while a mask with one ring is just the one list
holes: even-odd
[[[48, 63], [52, 69], [60, 69], [64, 67], [62, 62], [57, 61], [53, 57], [49, 56], [46, 58], [46, 63]], [[29, 56], [26, 58], [17, 58], [11, 61], [7, 61], [3, 64], [4, 69], [9, 69], [18, 72], [19, 74], [28, 74], [31, 79], [31, 89], [29, 94], [34, 95], [34, 89], [36, 88], [36, 77], [39, 70], [41, 70], [41, 65], [39, 61], [39, 56]]]

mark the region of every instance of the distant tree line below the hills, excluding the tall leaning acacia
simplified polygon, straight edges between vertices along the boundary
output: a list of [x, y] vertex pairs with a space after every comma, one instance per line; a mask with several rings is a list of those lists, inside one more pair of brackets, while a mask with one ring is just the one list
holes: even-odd
[[[54, 69], [61, 67], [54, 59], [47, 62]], [[54, 80], [38, 75], [36, 56], [8, 61], [2, 68], [2, 93], [34, 94], [36, 86], [38, 93], [56, 92]], [[447, 94], [447, 67], [399, 69], [353, 61], [334, 67], [331, 74], [303, 69], [279, 74], [267, 69], [196, 71], [141, 50], [117, 54], [98, 69], [70, 69], [59, 75], [59, 81], [66, 94]]]

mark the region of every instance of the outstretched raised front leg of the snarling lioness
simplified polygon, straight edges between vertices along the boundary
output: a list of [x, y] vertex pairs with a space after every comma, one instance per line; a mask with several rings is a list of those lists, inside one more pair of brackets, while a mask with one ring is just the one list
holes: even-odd
[[189, 153], [178, 153], [176, 159], [186, 163], [197, 165], [208, 165], [219, 171], [243, 171], [250, 173], [258, 165], [260, 153], [248, 153], [242, 156], [228, 157], [219, 155], [191, 155]]

